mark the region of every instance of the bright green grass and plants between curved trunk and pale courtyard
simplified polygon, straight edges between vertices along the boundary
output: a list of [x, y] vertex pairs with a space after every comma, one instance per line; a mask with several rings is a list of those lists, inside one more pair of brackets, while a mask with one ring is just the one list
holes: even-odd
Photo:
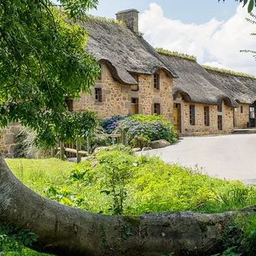
[[42, 196], [96, 213], [214, 213], [256, 202], [255, 186], [214, 179], [157, 157], [138, 157], [123, 145], [77, 165], [57, 159], [7, 161], [15, 175]]

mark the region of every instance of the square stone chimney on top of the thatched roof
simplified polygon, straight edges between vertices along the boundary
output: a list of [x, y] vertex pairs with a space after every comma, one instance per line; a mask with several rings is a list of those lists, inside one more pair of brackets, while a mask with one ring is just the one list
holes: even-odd
[[138, 31], [138, 13], [136, 9], [128, 9], [125, 11], [118, 11], [116, 15], [117, 21], [124, 21], [131, 31]]

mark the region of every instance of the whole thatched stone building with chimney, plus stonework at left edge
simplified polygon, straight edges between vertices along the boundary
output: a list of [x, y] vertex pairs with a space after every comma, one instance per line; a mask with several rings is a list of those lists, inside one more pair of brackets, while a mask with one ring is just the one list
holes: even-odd
[[[86, 23], [85, 50], [99, 62], [102, 76], [91, 94], [67, 100], [70, 110], [85, 109], [100, 118], [157, 113], [182, 135], [256, 127], [256, 79], [211, 72], [195, 58], [160, 53], [138, 33], [137, 10], [116, 17], [123, 22], [91, 18]], [[10, 124], [0, 130], [0, 151], [9, 157], [19, 128]]]

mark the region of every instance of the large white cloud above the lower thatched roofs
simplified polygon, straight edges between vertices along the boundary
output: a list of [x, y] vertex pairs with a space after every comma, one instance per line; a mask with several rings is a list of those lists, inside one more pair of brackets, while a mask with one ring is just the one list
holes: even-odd
[[238, 6], [228, 21], [212, 18], [205, 24], [183, 24], [164, 17], [163, 9], [156, 3], [150, 5], [139, 18], [139, 30], [154, 47], [195, 55], [199, 63], [256, 75], [256, 62], [251, 53], [256, 50], [256, 24], [245, 20], [247, 8]]

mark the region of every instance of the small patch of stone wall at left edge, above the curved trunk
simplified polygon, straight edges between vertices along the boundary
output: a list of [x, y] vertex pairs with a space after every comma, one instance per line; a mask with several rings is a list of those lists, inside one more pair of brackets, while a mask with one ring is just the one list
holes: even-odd
[[15, 136], [19, 133], [21, 125], [11, 123], [7, 128], [0, 129], [0, 151], [5, 157], [13, 157]]

